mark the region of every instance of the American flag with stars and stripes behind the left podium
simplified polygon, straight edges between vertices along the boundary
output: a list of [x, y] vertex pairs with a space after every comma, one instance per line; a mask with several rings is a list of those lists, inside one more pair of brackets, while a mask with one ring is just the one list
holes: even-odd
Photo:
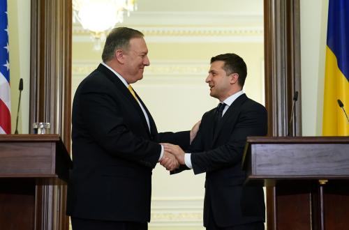
[[11, 133], [7, 0], [0, 0], [0, 134]]

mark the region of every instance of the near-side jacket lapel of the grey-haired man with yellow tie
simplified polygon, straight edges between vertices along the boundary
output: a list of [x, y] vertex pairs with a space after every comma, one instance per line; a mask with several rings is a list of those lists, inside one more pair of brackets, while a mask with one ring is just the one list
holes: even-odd
[[[137, 100], [135, 100], [135, 98], [133, 98], [133, 95], [131, 94], [131, 92], [126, 88], [126, 86], [124, 85], [123, 82], [121, 82], [121, 80], [119, 79], [119, 77], [114, 75], [114, 72], [110, 71], [108, 68], [106, 68], [105, 66], [103, 66], [102, 64], [100, 64], [97, 68], [99, 71], [103, 72], [105, 74], [105, 76], [110, 79], [111, 82], [114, 83], [114, 85], [117, 87], [118, 91], [120, 91], [125, 98], [127, 98], [127, 100], [130, 102], [130, 104], [137, 110], [138, 115], [140, 116], [140, 118], [142, 119], [142, 123], [144, 125], [144, 128], [147, 129], [147, 132], [150, 136], [150, 132], [149, 132], [149, 127], [147, 124], [147, 120], [144, 116], [144, 113], [142, 111], [142, 108], [140, 107], [140, 105], [138, 104]], [[138, 100], [140, 100], [140, 97], [138, 96], [137, 93], [135, 93], [135, 95], [137, 96]], [[140, 102], [142, 103], [142, 106], [144, 107], [144, 109], [147, 112], [147, 115], [149, 117], [149, 121], [153, 120], [150, 116], [150, 113], [147, 109], [147, 107], [145, 107], [144, 103], [142, 102], [142, 100], [140, 100]], [[154, 123], [154, 121], [152, 121]], [[149, 122], [150, 123], [150, 122]], [[152, 125], [150, 125], [151, 127]]]

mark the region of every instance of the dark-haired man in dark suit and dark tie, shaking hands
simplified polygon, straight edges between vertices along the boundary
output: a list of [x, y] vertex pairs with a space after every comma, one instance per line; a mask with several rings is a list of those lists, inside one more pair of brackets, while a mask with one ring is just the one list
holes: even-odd
[[204, 226], [208, 230], [264, 230], [263, 189], [243, 185], [246, 172], [241, 164], [246, 137], [267, 135], [267, 112], [242, 91], [246, 74], [246, 63], [237, 54], [212, 57], [206, 82], [220, 104], [202, 116], [188, 153], [164, 144], [186, 169], [206, 172]]

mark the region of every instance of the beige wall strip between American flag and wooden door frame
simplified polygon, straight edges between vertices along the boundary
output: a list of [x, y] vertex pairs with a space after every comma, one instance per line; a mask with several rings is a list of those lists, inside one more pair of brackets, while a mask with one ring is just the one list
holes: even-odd
[[30, 1], [8, 2], [8, 36], [10, 46], [11, 128], [15, 132], [19, 82], [23, 79], [18, 132], [29, 131], [29, 83], [30, 83]]

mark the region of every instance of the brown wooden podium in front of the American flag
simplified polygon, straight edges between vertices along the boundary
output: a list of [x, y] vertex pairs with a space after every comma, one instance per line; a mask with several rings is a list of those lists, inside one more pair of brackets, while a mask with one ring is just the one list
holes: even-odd
[[0, 229], [57, 229], [65, 198], [47, 204], [45, 193], [66, 184], [70, 167], [59, 135], [0, 135]]

